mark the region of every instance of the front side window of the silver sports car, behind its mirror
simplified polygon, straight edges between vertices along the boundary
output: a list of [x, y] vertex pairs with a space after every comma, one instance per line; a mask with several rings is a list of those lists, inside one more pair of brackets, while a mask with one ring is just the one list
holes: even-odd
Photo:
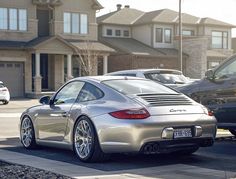
[[54, 98], [54, 104], [72, 104], [76, 101], [79, 92], [84, 86], [84, 82], [74, 81], [64, 86]]

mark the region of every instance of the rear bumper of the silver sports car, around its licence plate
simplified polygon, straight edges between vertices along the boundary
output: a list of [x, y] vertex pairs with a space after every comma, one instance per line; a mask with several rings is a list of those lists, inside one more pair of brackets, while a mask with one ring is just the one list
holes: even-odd
[[[140, 152], [149, 143], [158, 144], [160, 151], [170, 148], [184, 149], [187, 146], [211, 146], [216, 135], [216, 120], [203, 114], [152, 116], [145, 120], [119, 120], [102, 115], [92, 120], [97, 130], [101, 149], [105, 153]], [[179, 139], [164, 139], [168, 127], [194, 128], [201, 126], [200, 136]]]

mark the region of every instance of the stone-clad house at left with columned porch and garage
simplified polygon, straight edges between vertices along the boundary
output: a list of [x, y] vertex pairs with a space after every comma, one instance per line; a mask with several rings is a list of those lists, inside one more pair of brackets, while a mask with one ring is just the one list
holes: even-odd
[[89, 75], [106, 73], [114, 50], [98, 42], [101, 8], [97, 0], [0, 1], [0, 79], [11, 96], [54, 92], [85, 73], [88, 52]]

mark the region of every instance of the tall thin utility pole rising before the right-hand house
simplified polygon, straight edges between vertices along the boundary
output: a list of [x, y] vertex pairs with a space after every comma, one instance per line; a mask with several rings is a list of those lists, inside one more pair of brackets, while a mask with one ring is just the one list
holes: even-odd
[[183, 72], [183, 57], [182, 57], [182, 2], [179, 0], [179, 69]]

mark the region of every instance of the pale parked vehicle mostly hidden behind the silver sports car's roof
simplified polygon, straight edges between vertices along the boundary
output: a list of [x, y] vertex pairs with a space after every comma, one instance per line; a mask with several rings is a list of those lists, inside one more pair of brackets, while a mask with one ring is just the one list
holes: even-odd
[[116, 71], [116, 72], [108, 73], [106, 75], [133, 76], [133, 77], [139, 77], [139, 78], [146, 78], [146, 79], [163, 83], [173, 88], [195, 81], [195, 80], [191, 80], [185, 77], [181, 71], [173, 70], [173, 69], [123, 70], [123, 71]]

